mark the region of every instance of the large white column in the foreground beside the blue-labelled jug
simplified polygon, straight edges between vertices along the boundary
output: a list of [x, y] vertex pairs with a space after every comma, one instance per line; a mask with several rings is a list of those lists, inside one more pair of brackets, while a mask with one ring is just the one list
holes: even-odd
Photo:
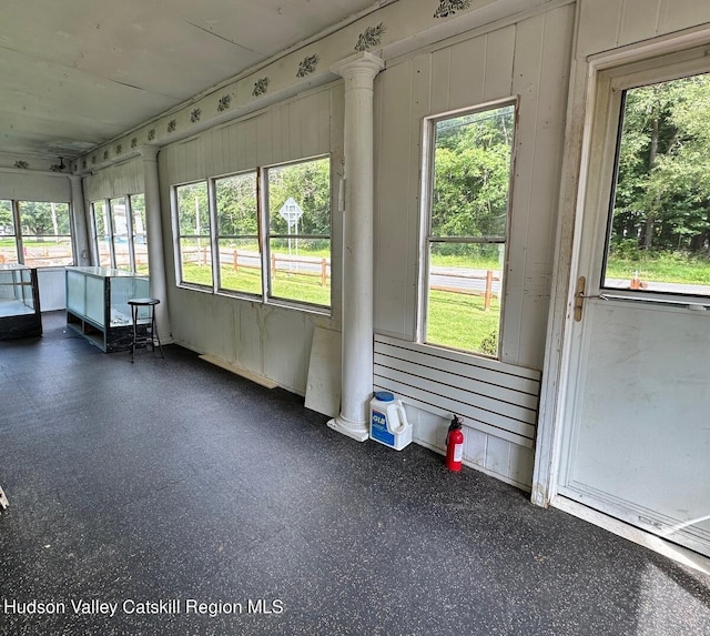
[[379, 58], [364, 52], [331, 69], [345, 80], [345, 212], [341, 413], [328, 426], [358, 442], [369, 433], [373, 395], [373, 82], [383, 68]]

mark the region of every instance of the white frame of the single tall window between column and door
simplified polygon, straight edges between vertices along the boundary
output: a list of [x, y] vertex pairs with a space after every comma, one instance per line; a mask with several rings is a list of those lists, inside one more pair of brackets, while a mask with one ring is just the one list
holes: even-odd
[[[510, 164], [508, 173], [508, 193], [506, 202], [506, 233], [505, 236], [440, 236], [432, 238], [432, 212], [433, 196], [435, 190], [435, 155], [436, 155], [436, 125], [449, 119], [456, 119], [468, 114], [483, 113], [494, 111], [501, 108], [511, 107], [514, 118], [514, 130], [510, 142]], [[455, 109], [424, 117], [422, 120], [422, 158], [420, 158], [420, 202], [419, 202], [419, 259], [417, 266], [417, 314], [415, 323], [416, 342], [435, 349], [444, 349], [455, 351], [464, 355], [476, 357], [486, 357], [489, 360], [501, 361], [503, 343], [505, 333], [505, 296], [508, 282], [508, 263], [510, 260], [509, 245], [513, 229], [513, 210], [514, 210], [514, 185], [515, 185], [515, 162], [516, 149], [519, 129], [519, 108], [520, 100], [517, 95], [511, 95], [498, 100], [487, 101], [473, 107]], [[493, 240], [491, 240], [493, 239]], [[432, 269], [432, 245], [434, 243], [458, 243], [458, 244], [480, 244], [480, 245], [504, 245], [504, 259], [500, 263], [501, 281], [500, 281], [500, 315], [498, 319], [498, 342], [496, 355], [489, 355], [479, 351], [456, 349], [446, 344], [430, 342], [427, 339], [427, 317], [429, 306], [429, 275]]]

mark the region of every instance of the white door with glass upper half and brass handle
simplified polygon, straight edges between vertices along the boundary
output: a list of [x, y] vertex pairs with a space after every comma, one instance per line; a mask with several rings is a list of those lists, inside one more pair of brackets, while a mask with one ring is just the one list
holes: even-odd
[[710, 556], [708, 71], [598, 74], [558, 493]]

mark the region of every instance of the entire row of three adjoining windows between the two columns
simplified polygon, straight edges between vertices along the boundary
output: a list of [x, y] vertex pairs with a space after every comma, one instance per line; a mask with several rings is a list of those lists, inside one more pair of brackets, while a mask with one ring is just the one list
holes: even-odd
[[179, 283], [329, 307], [329, 158], [215, 178], [210, 186], [173, 189]]

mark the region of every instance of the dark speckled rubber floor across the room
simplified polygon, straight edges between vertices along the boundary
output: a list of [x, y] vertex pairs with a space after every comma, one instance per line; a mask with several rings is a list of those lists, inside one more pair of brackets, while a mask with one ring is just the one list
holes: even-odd
[[708, 576], [180, 347], [44, 326], [0, 343], [2, 635], [710, 634]]

